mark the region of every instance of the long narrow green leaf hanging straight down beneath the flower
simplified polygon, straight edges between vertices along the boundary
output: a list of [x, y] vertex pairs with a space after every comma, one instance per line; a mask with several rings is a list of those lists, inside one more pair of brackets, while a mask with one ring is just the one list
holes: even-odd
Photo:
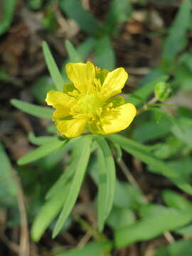
[[102, 231], [106, 218], [110, 214], [114, 200], [115, 188], [115, 165], [112, 152], [107, 142], [102, 137], [95, 137], [98, 144], [98, 164], [99, 164], [99, 199], [98, 215], [99, 228]]

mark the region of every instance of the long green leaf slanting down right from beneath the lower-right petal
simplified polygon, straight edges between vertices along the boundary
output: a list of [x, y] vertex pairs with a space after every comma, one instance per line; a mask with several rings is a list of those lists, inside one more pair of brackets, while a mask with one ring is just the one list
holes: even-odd
[[156, 159], [156, 157], [149, 152], [148, 148], [142, 144], [139, 144], [139, 142], [134, 142], [131, 139], [124, 138], [117, 134], [109, 135], [107, 138], [112, 140], [114, 143], [118, 143], [119, 146], [121, 146], [125, 151], [137, 157], [137, 159], [143, 161], [145, 164], [153, 166], [156, 173], [167, 177], [178, 175], [176, 171], [171, 168], [171, 166], [165, 164], [164, 161]]

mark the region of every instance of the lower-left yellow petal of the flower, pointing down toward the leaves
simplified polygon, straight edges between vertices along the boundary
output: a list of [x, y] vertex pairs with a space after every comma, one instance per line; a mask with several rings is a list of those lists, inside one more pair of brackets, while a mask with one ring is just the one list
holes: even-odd
[[70, 120], [63, 120], [58, 121], [57, 128], [58, 131], [65, 135], [68, 138], [75, 138], [80, 136], [82, 132], [85, 130], [86, 126], [85, 119], [70, 119]]

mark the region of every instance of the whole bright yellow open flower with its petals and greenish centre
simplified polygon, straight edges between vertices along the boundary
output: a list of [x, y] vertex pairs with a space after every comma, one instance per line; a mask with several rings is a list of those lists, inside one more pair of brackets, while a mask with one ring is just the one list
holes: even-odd
[[136, 108], [116, 96], [122, 92], [128, 75], [124, 68], [112, 72], [100, 70], [90, 62], [68, 63], [66, 73], [71, 82], [63, 92], [51, 90], [46, 102], [56, 110], [53, 120], [60, 134], [68, 138], [83, 132], [112, 134], [127, 128]]

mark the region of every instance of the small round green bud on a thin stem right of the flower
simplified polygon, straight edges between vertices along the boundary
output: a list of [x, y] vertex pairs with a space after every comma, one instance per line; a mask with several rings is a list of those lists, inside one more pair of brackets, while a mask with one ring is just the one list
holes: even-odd
[[171, 86], [167, 82], [158, 82], [155, 85], [154, 94], [155, 97], [160, 100], [161, 102], [164, 102], [169, 98], [171, 95]]

